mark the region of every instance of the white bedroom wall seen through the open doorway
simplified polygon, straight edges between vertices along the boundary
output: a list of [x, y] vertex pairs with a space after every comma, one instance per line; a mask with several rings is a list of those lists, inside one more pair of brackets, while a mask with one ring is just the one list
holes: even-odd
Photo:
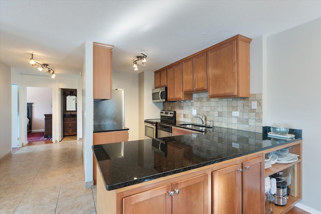
[[27, 103], [33, 103], [32, 131], [44, 131], [45, 114], [52, 114], [52, 88], [27, 87]]

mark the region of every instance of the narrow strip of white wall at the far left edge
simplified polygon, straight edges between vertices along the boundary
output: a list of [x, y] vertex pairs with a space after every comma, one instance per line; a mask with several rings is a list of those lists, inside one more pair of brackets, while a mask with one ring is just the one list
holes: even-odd
[[0, 158], [11, 154], [11, 68], [0, 62]]

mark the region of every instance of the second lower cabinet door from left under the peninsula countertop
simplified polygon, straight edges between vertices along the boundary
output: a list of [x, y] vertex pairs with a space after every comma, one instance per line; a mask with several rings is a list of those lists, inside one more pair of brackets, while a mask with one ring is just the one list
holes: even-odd
[[207, 174], [173, 183], [173, 191], [173, 213], [208, 213]]

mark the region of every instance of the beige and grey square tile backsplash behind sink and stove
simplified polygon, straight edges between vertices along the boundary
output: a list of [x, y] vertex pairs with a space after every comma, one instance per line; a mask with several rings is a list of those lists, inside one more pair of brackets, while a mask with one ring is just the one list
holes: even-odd
[[[257, 109], [252, 109], [252, 101]], [[193, 94], [193, 100], [163, 103], [164, 110], [176, 111], [177, 121], [202, 123], [193, 118], [193, 110], [205, 116], [205, 124], [262, 133], [262, 93], [246, 98], [209, 98], [207, 92]], [[239, 116], [232, 116], [238, 111]]]

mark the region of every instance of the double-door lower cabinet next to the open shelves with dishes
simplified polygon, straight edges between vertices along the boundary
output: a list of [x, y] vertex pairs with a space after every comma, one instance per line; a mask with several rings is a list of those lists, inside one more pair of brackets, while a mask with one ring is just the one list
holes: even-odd
[[212, 213], [264, 213], [263, 157], [212, 172]]

